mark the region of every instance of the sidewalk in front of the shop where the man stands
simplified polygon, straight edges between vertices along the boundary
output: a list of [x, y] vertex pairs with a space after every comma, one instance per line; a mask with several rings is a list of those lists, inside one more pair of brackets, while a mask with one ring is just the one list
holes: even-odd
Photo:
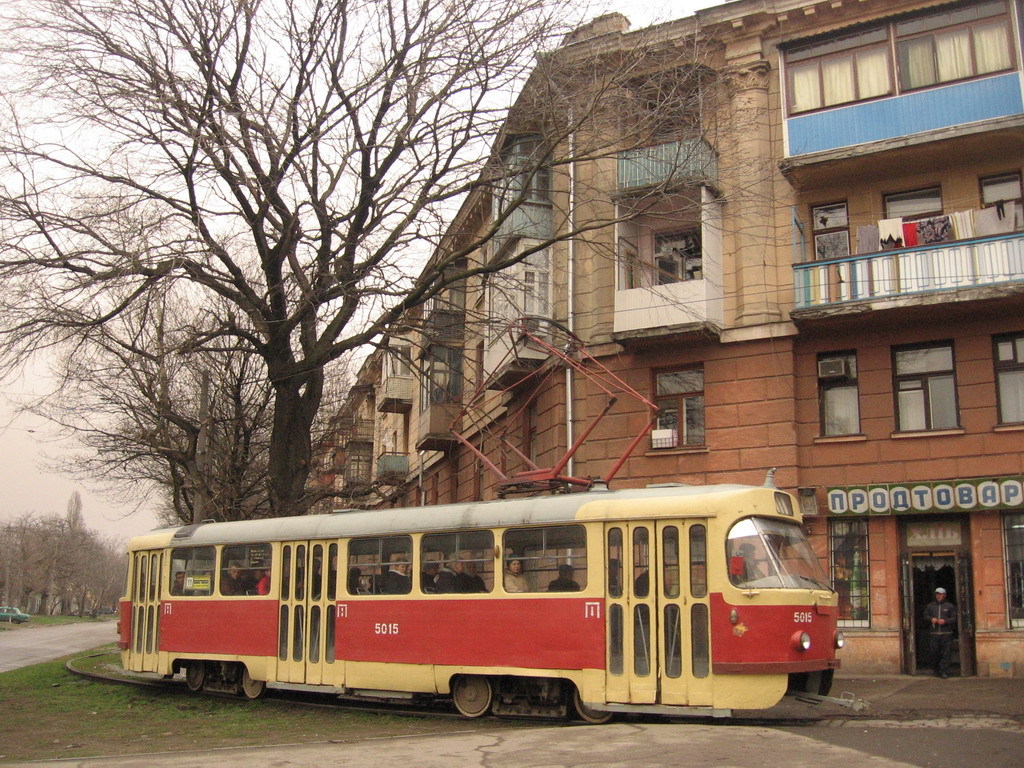
[[876, 677], [837, 676], [829, 695], [852, 693], [867, 701], [860, 712], [831, 703], [817, 707], [799, 701], [779, 705], [779, 715], [795, 714], [803, 707], [804, 716], [879, 719], [910, 719], [956, 715], [994, 715], [1024, 719], [1024, 678], [951, 677], [932, 675], [879, 675]]

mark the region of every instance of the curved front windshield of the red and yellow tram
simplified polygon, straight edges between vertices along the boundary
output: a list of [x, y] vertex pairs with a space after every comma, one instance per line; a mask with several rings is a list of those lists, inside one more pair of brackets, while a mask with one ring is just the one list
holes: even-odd
[[748, 517], [729, 531], [729, 581], [757, 589], [831, 590], [796, 522]]

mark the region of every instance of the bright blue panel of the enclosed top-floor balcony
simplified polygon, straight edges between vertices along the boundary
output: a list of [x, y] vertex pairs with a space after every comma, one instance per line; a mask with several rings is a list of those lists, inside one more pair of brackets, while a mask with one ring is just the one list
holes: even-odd
[[1011, 73], [790, 118], [790, 157], [1024, 114]]

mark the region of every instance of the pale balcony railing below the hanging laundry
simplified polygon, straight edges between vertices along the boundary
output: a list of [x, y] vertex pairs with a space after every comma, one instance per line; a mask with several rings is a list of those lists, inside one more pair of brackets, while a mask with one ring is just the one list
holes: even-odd
[[1024, 283], [1024, 232], [795, 264], [796, 309]]

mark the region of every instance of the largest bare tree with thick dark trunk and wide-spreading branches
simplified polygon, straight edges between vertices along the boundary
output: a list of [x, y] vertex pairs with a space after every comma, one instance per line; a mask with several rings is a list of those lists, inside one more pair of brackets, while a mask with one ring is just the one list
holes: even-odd
[[[312, 501], [326, 367], [543, 248], [466, 260], [525, 201], [524, 178], [622, 146], [607, 98], [650, 65], [623, 51], [615, 68], [538, 62], [573, 26], [558, 0], [24, 0], [8, 13], [8, 83], [24, 87], [0, 137], [0, 362], [79, 344], [158, 287], [224, 302], [176, 330], [182, 348], [259, 360], [275, 514]], [[510, 166], [500, 139], [520, 128], [543, 140]], [[455, 242], [474, 195], [500, 210]], [[549, 242], [580, 234], [556, 229]]]

